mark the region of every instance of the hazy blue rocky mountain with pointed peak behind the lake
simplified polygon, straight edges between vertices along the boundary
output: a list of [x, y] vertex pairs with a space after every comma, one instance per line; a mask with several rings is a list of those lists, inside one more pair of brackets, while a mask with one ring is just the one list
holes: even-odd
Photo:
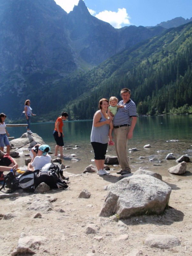
[[164, 30], [160, 26], [115, 29], [93, 17], [82, 0], [69, 14], [54, 0], [0, 0], [1, 111], [20, 117], [27, 98], [36, 105], [42, 102], [39, 114], [46, 113], [46, 104], [56, 109], [56, 97], [48, 103], [45, 90], [56, 83], [57, 92], [63, 90], [62, 79], [68, 75], [92, 69]]

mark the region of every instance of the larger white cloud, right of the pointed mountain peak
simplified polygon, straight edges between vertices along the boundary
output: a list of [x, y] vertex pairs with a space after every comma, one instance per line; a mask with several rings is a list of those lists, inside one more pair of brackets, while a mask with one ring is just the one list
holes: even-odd
[[110, 23], [114, 28], [121, 28], [125, 25], [130, 25], [130, 17], [128, 16], [127, 10], [125, 8], [118, 9], [115, 11], [101, 11], [96, 14], [95, 17]]

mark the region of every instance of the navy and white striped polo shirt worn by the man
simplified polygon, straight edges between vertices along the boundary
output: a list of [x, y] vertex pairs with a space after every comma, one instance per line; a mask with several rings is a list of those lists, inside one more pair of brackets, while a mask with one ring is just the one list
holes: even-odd
[[[123, 105], [123, 100], [118, 103]], [[131, 123], [131, 117], [137, 117], [137, 109], [135, 102], [131, 99], [125, 103], [124, 108], [118, 108], [117, 114], [113, 118], [113, 125], [122, 125]]]

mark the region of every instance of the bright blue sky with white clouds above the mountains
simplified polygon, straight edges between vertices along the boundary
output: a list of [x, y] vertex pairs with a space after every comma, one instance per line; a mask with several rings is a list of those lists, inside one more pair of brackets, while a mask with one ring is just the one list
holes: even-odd
[[[79, 0], [55, 0], [67, 13]], [[89, 12], [115, 28], [156, 26], [162, 21], [192, 17], [192, 0], [84, 0]]]

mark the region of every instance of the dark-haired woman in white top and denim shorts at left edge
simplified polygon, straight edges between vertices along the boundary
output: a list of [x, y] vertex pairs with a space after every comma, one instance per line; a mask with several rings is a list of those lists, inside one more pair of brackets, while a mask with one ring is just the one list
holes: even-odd
[[9, 137], [9, 133], [6, 130], [5, 118], [7, 116], [4, 113], [0, 114], [0, 149], [4, 151], [4, 145], [7, 147], [7, 154], [10, 154], [10, 144], [7, 136]]

